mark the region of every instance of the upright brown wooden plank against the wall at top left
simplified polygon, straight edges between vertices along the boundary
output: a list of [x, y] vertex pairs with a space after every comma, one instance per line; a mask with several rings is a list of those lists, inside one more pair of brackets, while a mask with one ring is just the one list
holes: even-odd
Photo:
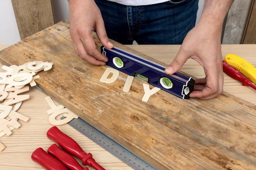
[[51, 0], [11, 0], [21, 40], [54, 24]]

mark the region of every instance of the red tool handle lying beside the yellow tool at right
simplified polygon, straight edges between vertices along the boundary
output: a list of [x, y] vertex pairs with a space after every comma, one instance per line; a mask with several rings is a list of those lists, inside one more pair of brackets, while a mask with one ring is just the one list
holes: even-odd
[[243, 86], [251, 86], [256, 90], [256, 86], [252, 84], [250, 78], [245, 78], [242, 73], [240, 73], [236, 68], [229, 66], [225, 61], [222, 61], [223, 71], [229, 75], [229, 77], [232, 77], [233, 79], [236, 79], [243, 83]]

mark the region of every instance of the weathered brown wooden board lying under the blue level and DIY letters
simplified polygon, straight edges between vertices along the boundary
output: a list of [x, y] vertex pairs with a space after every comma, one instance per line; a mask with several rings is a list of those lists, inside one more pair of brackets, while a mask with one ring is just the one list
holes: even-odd
[[99, 81], [108, 66], [76, 55], [67, 20], [0, 51], [7, 66], [37, 60], [54, 63], [38, 73], [39, 88], [159, 170], [256, 169], [253, 104], [228, 93], [202, 101], [164, 91], [142, 102], [142, 79], [135, 77], [128, 93], [124, 73], [112, 84]]

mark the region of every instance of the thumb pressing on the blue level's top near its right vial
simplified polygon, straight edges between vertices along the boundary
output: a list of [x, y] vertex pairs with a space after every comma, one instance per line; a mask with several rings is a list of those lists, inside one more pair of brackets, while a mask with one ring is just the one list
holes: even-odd
[[166, 74], [173, 74], [180, 70], [183, 64], [186, 62], [187, 58], [182, 51], [179, 51], [174, 58], [173, 62], [165, 69]]

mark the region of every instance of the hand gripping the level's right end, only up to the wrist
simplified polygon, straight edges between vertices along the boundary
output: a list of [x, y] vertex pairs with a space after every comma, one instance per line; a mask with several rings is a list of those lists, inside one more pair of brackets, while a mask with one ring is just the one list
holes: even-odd
[[[166, 73], [177, 72], [188, 58], [192, 58], [204, 67], [206, 77], [195, 81], [194, 91], [190, 97], [211, 99], [220, 95], [223, 89], [222, 53], [220, 33], [215, 33], [207, 26], [195, 26], [184, 39], [180, 51], [171, 63], [173, 71], [166, 69]], [[211, 29], [211, 28], [210, 28]]]

